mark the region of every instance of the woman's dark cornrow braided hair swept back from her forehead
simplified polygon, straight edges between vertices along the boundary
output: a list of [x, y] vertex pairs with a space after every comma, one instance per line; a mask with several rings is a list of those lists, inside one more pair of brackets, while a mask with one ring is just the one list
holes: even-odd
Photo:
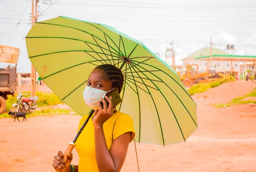
[[101, 64], [95, 69], [104, 71], [107, 80], [112, 82], [112, 88], [118, 88], [119, 93], [124, 85], [124, 76], [122, 71], [112, 64]]

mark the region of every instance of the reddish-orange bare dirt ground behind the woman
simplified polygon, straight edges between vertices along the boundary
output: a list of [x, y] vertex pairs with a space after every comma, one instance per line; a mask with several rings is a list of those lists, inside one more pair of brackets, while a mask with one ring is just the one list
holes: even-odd
[[[226, 104], [254, 88], [255, 82], [236, 81], [193, 95], [199, 129], [186, 143], [165, 147], [136, 143], [140, 172], [256, 172], [256, 106], [212, 105]], [[27, 122], [0, 119], [0, 171], [55, 172], [53, 156], [73, 140], [79, 119], [79, 115], [29, 117]], [[76, 164], [78, 156], [73, 153]], [[122, 172], [137, 171], [130, 143]]]

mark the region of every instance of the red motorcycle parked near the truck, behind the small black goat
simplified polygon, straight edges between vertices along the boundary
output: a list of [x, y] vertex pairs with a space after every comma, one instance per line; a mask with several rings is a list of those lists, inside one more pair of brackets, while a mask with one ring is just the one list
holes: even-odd
[[17, 95], [17, 103], [14, 103], [11, 106], [11, 112], [26, 112], [26, 113], [34, 113], [37, 105], [36, 101], [38, 100], [38, 96], [34, 97], [23, 97], [22, 93], [18, 93]]

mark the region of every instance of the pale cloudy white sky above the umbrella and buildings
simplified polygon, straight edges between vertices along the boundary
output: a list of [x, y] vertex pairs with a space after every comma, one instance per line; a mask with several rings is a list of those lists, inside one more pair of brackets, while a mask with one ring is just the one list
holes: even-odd
[[[0, 2], [0, 45], [19, 48], [17, 72], [30, 73], [25, 37], [32, 0]], [[209, 47], [210, 39], [223, 51], [234, 45], [233, 55], [256, 56], [256, 0], [39, 0], [38, 5], [37, 21], [66, 16], [109, 25], [164, 61], [172, 45], [176, 65]]]

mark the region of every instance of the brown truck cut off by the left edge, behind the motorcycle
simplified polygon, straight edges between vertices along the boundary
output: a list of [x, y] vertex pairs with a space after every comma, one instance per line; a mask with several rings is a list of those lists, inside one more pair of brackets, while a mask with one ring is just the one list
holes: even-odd
[[[6, 64], [0, 68], [0, 114], [6, 109], [7, 95], [17, 92], [17, 62], [20, 49], [0, 45], [0, 63]], [[11, 66], [10, 63], [15, 64]]]

